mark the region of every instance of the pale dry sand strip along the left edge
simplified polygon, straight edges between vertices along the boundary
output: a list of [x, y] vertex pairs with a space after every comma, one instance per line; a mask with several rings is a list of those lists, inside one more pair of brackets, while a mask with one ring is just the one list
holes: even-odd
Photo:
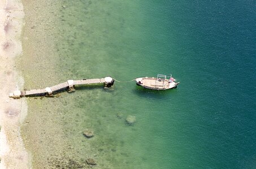
[[20, 133], [21, 123], [27, 114], [24, 99], [8, 97], [11, 91], [23, 88], [23, 78], [18, 74], [15, 57], [22, 54], [21, 32], [24, 25], [23, 4], [19, 0], [1, 0], [0, 4], [0, 168], [31, 168]]

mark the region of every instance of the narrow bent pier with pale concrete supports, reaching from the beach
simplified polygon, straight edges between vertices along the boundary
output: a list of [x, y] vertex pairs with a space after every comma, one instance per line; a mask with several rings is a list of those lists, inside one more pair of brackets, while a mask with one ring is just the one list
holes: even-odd
[[68, 80], [67, 82], [57, 84], [55, 86], [46, 87], [44, 89], [28, 90], [28, 91], [14, 91], [9, 94], [9, 97], [19, 99], [20, 97], [31, 96], [45, 96], [53, 95], [63, 90], [73, 90], [74, 87], [85, 84], [99, 84], [103, 83], [106, 87], [111, 87], [114, 84], [114, 79], [111, 77], [105, 77], [101, 79], [83, 79], [83, 80]]

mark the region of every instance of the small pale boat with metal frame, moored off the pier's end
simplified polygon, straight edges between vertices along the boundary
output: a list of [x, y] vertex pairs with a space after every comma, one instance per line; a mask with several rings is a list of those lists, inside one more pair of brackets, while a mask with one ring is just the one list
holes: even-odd
[[157, 77], [136, 78], [136, 84], [150, 90], [167, 90], [176, 88], [180, 82], [170, 75], [158, 74]]

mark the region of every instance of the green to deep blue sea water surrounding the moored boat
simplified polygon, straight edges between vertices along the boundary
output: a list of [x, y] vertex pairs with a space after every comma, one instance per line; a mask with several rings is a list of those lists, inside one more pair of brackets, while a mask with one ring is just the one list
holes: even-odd
[[[115, 82], [113, 90], [84, 87], [43, 99], [62, 112], [54, 122], [65, 140], [47, 146], [68, 143], [75, 153], [66, 151], [67, 157], [94, 158], [96, 168], [256, 166], [254, 1], [63, 5], [56, 34], [60, 82], [172, 73], [180, 84], [157, 92]], [[136, 117], [134, 126], [125, 124], [128, 115]], [[86, 128], [92, 139], [83, 136]]]

